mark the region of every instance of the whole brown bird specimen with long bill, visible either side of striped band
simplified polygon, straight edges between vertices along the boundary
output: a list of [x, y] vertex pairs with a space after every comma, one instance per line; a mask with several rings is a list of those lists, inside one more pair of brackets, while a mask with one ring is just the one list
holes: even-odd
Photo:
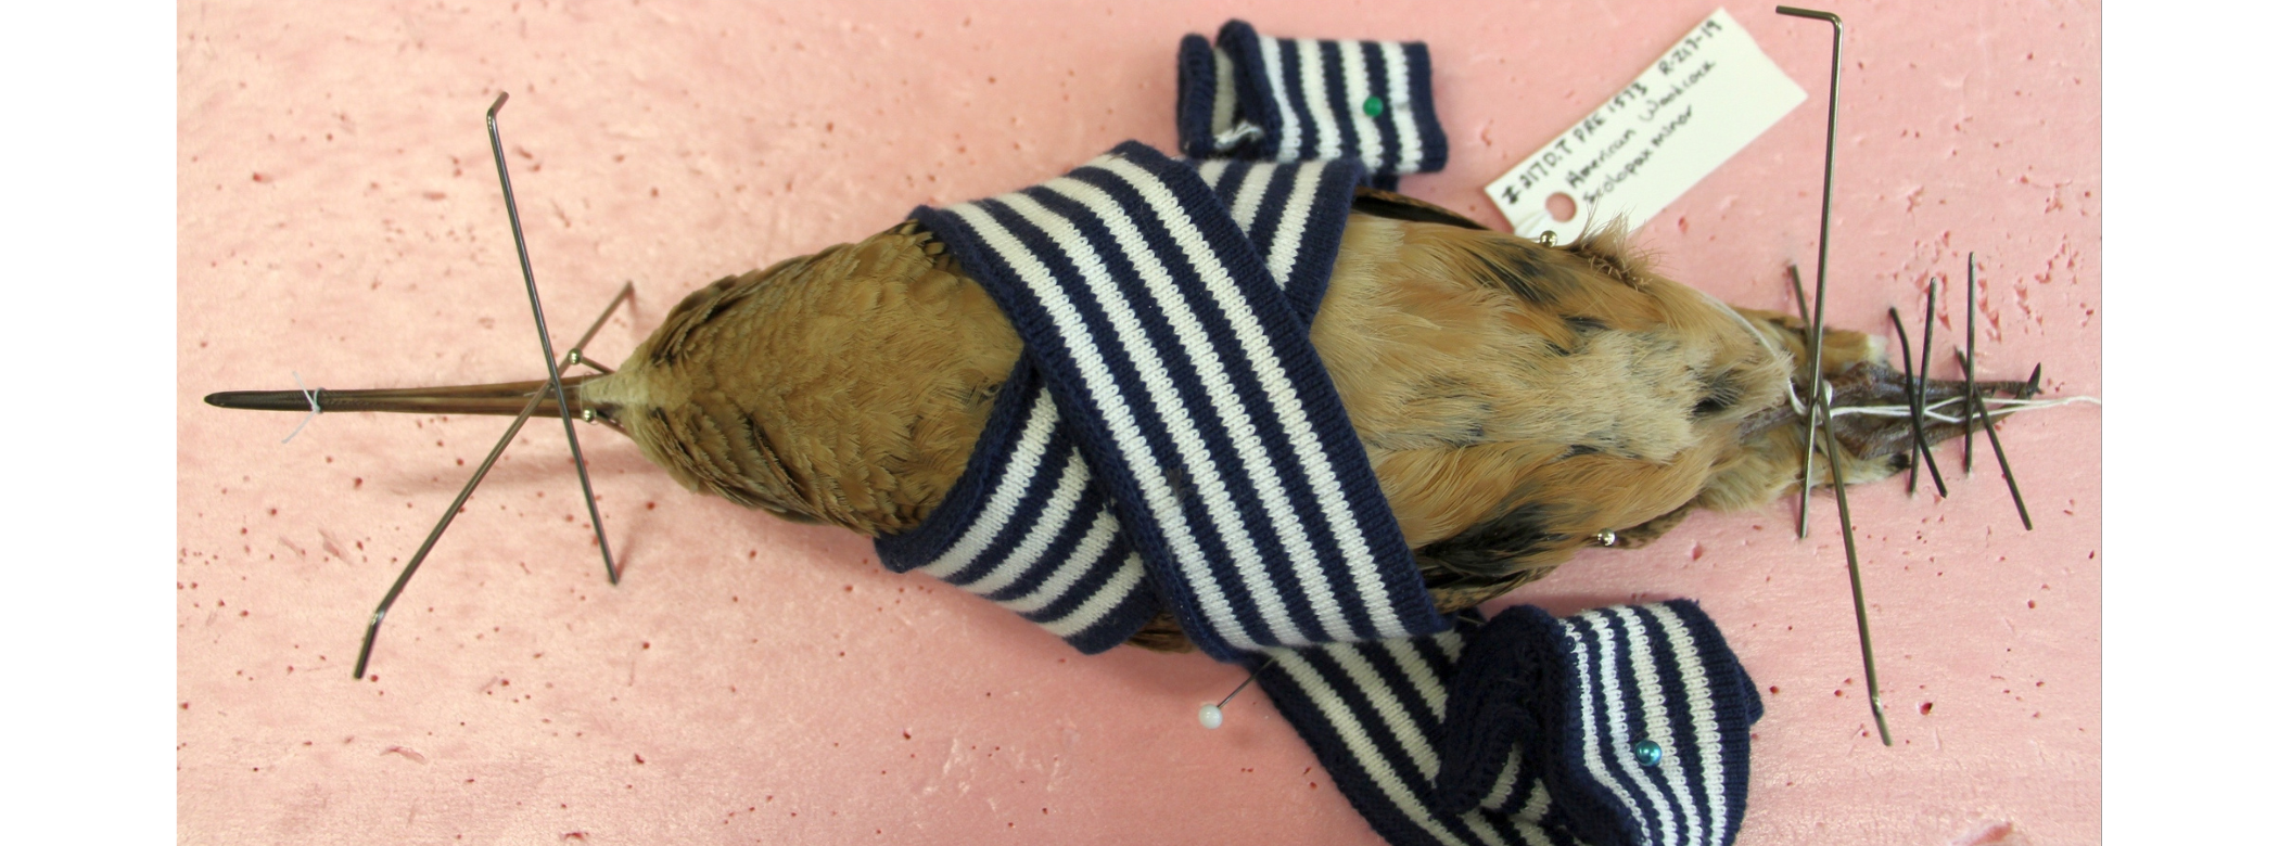
[[[1905, 415], [1837, 415], [1803, 479], [1810, 326], [1668, 280], [1602, 228], [1552, 246], [1361, 189], [1310, 340], [1443, 611], [1543, 577], [1584, 545], [1636, 547], [1696, 509], [1914, 461]], [[695, 493], [864, 536], [918, 527], [964, 474], [1021, 337], [916, 221], [688, 294], [572, 415], [627, 433]], [[1837, 410], [2026, 399], [2035, 381], [1926, 381], [1880, 337], [1828, 331]], [[545, 381], [326, 390], [324, 410], [515, 415]], [[305, 410], [303, 392], [221, 392]], [[558, 413], [552, 397], [540, 413]], [[1974, 422], [1930, 420], [1939, 442]], [[1165, 611], [1130, 643], [1185, 650]]]

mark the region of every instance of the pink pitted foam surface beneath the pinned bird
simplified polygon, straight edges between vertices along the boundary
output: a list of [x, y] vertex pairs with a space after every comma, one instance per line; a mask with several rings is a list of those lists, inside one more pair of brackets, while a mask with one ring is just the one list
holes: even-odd
[[[353, 682], [371, 604], [504, 422], [328, 415], [278, 445], [292, 415], [198, 397], [538, 372], [481, 125], [501, 89], [556, 331], [640, 290], [593, 344], [615, 360], [718, 276], [1126, 137], [1169, 148], [1176, 41], [1228, 16], [1429, 41], [1452, 164], [1404, 187], [1500, 221], [1481, 185], [1714, 7], [180, 7], [180, 839], [1374, 841], [1260, 693], [1194, 725], [1237, 670], [1078, 657], [882, 572], [852, 534], [693, 497], [590, 426], [624, 584], [602, 579], [558, 424], [533, 422], [397, 607], [378, 680]], [[1643, 239], [1673, 278], [1794, 308], [1828, 27], [1732, 11], [1812, 98]], [[1976, 249], [1987, 369], [2047, 363], [2058, 394], [2097, 394], [2099, 9], [1832, 11], [1853, 32], [1830, 322], [1919, 310]], [[1741, 844], [2092, 841], [2101, 415], [2003, 436], [2033, 534], [1992, 461], [1944, 502], [1853, 499], [1896, 748], [1867, 721], [1832, 499], [1805, 543], [1789, 504], [1696, 515], [1520, 600], [1702, 600], [1769, 691]]]

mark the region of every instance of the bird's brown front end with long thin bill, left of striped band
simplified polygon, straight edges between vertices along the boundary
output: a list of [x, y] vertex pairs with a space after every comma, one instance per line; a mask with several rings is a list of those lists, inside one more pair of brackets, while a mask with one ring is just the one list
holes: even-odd
[[[563, 376], [570, 417], [615, 429], [695, 493], [866, 536], [923, 522], [1021, 342], [914, 223], [750, 274], [672, 308], [615, 372]], [[324, 410], [517, 415], [547, 381], [317, 390]], [[308, 410], [299, 390], [205, 397]], [[540, 397], [538, 415], [563, 404]]]

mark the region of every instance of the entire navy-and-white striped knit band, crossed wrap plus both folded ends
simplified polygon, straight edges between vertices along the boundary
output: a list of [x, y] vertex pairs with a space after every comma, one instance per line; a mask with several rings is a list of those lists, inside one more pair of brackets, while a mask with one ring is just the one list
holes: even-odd
[[[1716, 625], [1664, 602], [1447, 629], [1313, 358], [1354, 187], [1445, 160], [1424, 48], [1235, 21], [1181, 62], [1183, 146], [1212, 160], [1124, 144], [914, 212], [1028, 349], [966, 474], [880, 559], [1083, 652], [1169, 607], [1263, 666], [1392, 844], [1732, 844], [1762, 705]], [[1374, 141], [1329, 107], [1361, 91]]]

